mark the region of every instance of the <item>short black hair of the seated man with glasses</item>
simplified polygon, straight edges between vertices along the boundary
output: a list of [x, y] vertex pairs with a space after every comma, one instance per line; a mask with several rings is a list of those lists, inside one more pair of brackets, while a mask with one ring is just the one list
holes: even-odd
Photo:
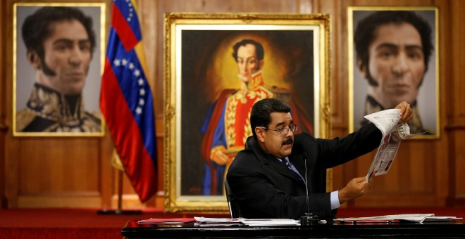
[[277, 98], [265, 98], [261, 101], [257, 101], [252, 106], [250, 112], [250, 127], [252, 128], [252, 134], [256, 140], [255, 128], [256, 127], [268, 127], [271, 124], [271, 113], [272, 112], [290, 112], [290, 106], [285, 101]]

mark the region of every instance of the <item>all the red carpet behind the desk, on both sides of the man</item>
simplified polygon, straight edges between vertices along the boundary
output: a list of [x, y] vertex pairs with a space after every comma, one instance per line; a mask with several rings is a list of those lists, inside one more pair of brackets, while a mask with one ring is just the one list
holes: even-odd
[[[228, 214], [165, 214], [162, 209], [144, 209], [142, 214], [132, 215], [101, 215], [97, 211], [98, 209], [0, 209], [0, 238], [122, 238], [120, 230], [129, 220], [229, 217]], [[465, 208], [341, 208], [337, 217], [410, 213], [465, 217]]]

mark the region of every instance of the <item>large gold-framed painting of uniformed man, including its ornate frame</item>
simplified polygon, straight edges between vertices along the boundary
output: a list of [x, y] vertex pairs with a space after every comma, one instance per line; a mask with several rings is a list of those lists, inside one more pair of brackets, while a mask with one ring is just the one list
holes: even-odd
[[225, 174], [262, 98], [291, 105], [296, 134], [329, 136], [328, 15], [167, 13], [165, 24], [166, 211], [228, 212]]

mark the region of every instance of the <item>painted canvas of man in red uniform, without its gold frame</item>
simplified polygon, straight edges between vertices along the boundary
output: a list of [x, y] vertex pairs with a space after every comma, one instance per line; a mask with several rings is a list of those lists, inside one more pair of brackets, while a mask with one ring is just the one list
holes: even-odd
[[182, 194], [224, 195], [256, 101], [286, 101], [299, 131], [314, 134], [312, 31], [186, 31], [182, 42]]

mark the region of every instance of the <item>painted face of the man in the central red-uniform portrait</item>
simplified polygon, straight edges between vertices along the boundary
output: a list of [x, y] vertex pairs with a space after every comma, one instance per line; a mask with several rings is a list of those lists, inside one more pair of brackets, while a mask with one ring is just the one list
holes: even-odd
[[237, 49], [237, 70], [238, 76], [243, 82], [249, 82], [252, 74], [261, 69], [263, 60], [256, 58], [256, 49], [253, 44], [246, 44]]

